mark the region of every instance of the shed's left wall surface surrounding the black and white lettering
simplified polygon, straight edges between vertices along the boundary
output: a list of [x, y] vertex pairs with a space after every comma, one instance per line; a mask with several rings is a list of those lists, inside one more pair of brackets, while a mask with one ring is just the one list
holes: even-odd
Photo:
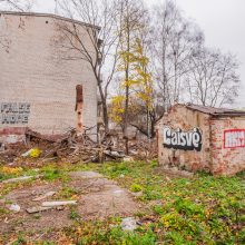
[[[180, 128], [183, 131], [192, 131], [194, 128], [199, 128], [202, 133], [202, 149], [200, 151], [183, 150], [164, 147], [163, 129], [170, 127], [173, 129]], [[176, 105], [167, 116], [164, 116], [158, 125], [158, 156], [161, 165], [178, 166], [188, 170], [209, 169], [210, 163], [210, 130], [209, 116], [186, 109], [183, 106]]]

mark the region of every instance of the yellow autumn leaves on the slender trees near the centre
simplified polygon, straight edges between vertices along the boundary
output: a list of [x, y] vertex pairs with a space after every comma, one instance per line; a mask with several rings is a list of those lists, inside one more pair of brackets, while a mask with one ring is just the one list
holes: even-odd
[[[129, 46], [128, 46], [129, 45]], [[117, 71], [124, 76], [119, 81], [120, 89], [127, 89], [124, 96], [116, 96], [111, 101], [110, 118], [120, 124], [125, 114], [125, 100], [128, 98], [128, 111], [139, 108], [153, 108], [153, 79], [148, 71], [149, 59], [145, 53], [141, 39], [135, 38], [130, 43], [121, 43]]]

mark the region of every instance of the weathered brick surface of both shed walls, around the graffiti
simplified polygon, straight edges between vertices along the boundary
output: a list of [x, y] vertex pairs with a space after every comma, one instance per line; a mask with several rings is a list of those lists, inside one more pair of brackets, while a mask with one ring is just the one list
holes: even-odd
[[[168, 149], [164, 147], [163, 128], [180, 128], [184, 131], [194, 127], [202, 129], [203, 147], [200, 151]], [[158, 125], [158, 156], [161, 165], [185, 167], [189, 170], [208, 170], [214, 175], [234, 175], [245, 169], [245, 147], [226, 148], [225, 130], [245, 130], [245, 117], [213, 117], [208, 114], [187, 109], [176, 105], [164, 116]], [[244, 139], [241, 139], [244, 140]]]

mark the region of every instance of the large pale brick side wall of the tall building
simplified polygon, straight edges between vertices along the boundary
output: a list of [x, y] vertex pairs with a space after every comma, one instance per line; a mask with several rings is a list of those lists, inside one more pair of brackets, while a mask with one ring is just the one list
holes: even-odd
[[[81, 59], [61, 59], [57, 21], [47, 16], [0, 16], [0, 133], [8, 127], [30, 127], [57, 135], [76, 127], [77, 85], [84, 86], [84, 124], [97, 125], [92, 70]], [[92, 52], [84, 27], [80, 32]], [[11, 124], [7, 124], [8, 115]]]

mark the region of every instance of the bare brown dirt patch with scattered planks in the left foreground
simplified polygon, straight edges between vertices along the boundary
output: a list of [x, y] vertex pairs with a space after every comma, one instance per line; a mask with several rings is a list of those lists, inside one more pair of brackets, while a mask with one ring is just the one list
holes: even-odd
[[[11, 212], [4, 220], [0, 222], [0, 235], [69, 227], [74, 222], [70, 217], [71, 210], [76, 210], [76, 215], [84, 220], [98, 220], [114, 216], [129, 217], [137, 212], [138, 204], [131, 194], [120, 188], [115, 182], [94, 171], [76, 171], [70, 175], [72, 180], [66, 184], [60, 182], [32, 187], [23, 186], [4, 196], [4, 203], [18, 204], [21, 209], [18, 213]], [[61, 198], [60, 193], [63, 189], [72, 190], [74, 195], [70, 198]], [[57, 192], [57, 194], [40, 202], [33, 200], [48, 192]], [[52, 208], [37, 214], [28, 214], [26, 210], [40, 206], [46, 200], [67, 199], [76, 199], [77, 205]]]

